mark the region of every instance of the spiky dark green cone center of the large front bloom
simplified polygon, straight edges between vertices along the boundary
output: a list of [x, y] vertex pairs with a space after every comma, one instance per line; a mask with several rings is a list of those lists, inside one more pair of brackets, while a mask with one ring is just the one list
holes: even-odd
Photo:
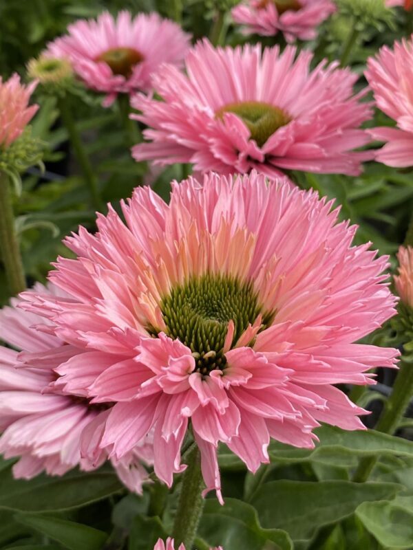
[[273, 318], [263, 311], [252, 283], [225, 274], [207, 273], [174, 287], [160, 309], [167, 335], [191, 349], [203, 375], [226, 364], [223, 348], [230, 320], [235, 325], [232, 345], [260, 314], [261, 330]]

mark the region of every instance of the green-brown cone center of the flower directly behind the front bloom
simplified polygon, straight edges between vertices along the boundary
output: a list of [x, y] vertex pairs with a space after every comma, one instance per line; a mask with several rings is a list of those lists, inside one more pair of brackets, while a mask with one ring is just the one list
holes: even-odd
[[261, 101], [244, 101], [229, 103], [218, 109], [216, 116], [222, 118], [224, 113], [239, 116], [251, 132], [251, 140], [262, 147], [277, 129], [290, 122], [291, 117], [282, 109]]

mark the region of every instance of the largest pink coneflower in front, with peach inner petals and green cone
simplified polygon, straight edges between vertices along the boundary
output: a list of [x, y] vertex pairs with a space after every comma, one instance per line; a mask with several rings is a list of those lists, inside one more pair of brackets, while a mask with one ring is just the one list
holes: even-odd
[[[271, 437], [313, 448], [319, 422], [363, 428], [365, 411], [334, 384], [371, 384], [370, 369], [394, 364], [395, 349], [352, 342], [395, 298], [387, 257], [352, 246], [331, 202], [253, 173], [175, 183], [169, 205], [137, 188], [122, 207], [126, 223], [110, 209], [96, 234], [66, 239], [77, 259], [59, 259], [50, 279], [68, 297], [25, 305], [83, 348], [59, 368], [67, 390], [94, 379], [94, 403], [118, 401], [101, 448], [120, 459], [153, 430], [170, 486], [190, 420], [221, 500], [220, 441], [255, 472]], [[96, 350], [113, 364], [94, 362]], [[134, 360], [119, 361], [127, 350]]]

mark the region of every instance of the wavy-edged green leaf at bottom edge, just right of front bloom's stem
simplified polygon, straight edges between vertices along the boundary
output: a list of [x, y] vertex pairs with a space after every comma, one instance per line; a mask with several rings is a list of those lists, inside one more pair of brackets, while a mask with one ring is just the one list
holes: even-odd
[[224, 506], [207, 499], [198, 533], [211, 547], [221, 545], [225, 550], [293, 549], [285, 531], [263, 529], [255, 509], [235, 498], [226, 498]]

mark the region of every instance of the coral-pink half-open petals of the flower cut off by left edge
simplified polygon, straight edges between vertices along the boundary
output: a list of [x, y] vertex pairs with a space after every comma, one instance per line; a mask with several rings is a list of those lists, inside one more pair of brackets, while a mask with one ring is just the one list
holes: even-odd
[[20, 137], [25, 126], [32, 120], [39, 105], [30, 105], [29, 100], [36, 82], [28, 86], [20, 83], [20, 76], [13, 74], [4, 81], [0, 76], [0, 148], [10, 146]]

